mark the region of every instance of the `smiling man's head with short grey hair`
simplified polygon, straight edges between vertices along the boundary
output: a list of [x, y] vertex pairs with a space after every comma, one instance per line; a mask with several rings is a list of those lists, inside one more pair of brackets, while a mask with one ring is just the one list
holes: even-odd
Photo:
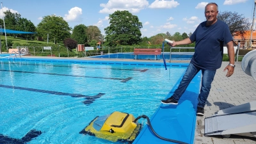
[[218, 15], [217, 6], [215, 4], [209, 4], [206, 6], [204, 15], [208, 22], [215, 22]]

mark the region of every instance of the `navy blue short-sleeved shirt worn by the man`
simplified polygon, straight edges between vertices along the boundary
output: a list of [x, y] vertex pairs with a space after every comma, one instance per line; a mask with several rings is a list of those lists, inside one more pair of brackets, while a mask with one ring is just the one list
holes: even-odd
[[221, 67], [223, 45], [233, 40], [228, 25], [221, 20], [211, 26], [206, 26], [206, 21], [202, 22], [189, 39], [196, 42], [195, 54], [190, 62], [205, 70]]

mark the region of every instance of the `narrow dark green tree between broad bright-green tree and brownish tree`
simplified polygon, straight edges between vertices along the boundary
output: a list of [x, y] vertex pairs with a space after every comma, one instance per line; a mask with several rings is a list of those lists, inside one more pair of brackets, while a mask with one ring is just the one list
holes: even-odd
[[79, 24], [74, 27], [71, 38], [77, 41], [77, 44], [86, 44], [87, 43], [87, 35], [86, 35], [87, 27], [84, 24]]

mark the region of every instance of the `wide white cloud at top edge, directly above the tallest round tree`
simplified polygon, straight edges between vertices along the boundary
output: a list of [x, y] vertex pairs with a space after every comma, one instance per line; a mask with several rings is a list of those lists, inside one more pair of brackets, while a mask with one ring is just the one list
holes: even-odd
[[127, 10], [131, 13], [138, 13], [140, 10], [147, 8], [147, 0], [109, 0], [108, 3], [101, 3], [103, 8], [99, 13], [114, 13], [116, 10]]

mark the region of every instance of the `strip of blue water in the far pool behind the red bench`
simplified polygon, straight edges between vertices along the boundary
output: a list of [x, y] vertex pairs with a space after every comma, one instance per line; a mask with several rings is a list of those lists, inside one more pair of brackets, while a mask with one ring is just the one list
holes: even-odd
[[[182, 54], [179, 54], [179, 52], [173, 52], [171, 56], [171, 60], [191, 60], [194, 52], [182, 52]], [[133, 52], [127, 52], [127, 53], [115, 53], [115, 54], [103, 54], [98, 56], [91, 56], [92, 58], [118, 58], [118, 59], [135, 59], [135, 55]], [[166, 60], [170, 60], [170, 52], [164, 53], [164, 58]], [[155, 60], [154, 55], [138, 55], [139, 60]], [[163, 60], [163, 55], [156, 56], [157, 60]]]

